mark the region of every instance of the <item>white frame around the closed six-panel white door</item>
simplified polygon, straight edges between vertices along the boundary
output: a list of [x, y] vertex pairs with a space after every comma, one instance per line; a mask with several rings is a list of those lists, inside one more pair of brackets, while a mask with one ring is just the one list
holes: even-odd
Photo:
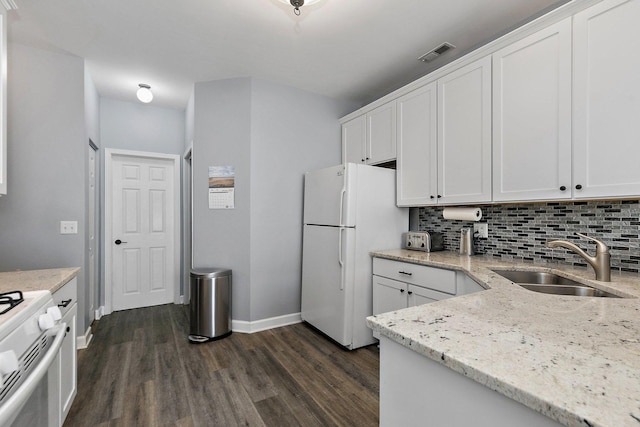
[[155, 160], [171, 160], [173, 161], [173, 185], [174, 185], [174, 200], [173, 200], [173, 216], [176, 220], [176, 224], [173, 227], [173, 241], [174, 241], [174, 253], [173, 262], [175, 265], [175, 273], [173, 277], [174, 289], [173, 289], [173, 302], [174, 304], [180, 303], [180, 256], [182, 252], [182, 242], [180, 241], [181, 230], [181, 212], [180, 212], [180, 197], [182, 189], [180, 187], [180, 156], [178, 154], [165, 154], [165, 153], [151, 153], [145, 151], [132, 151], [132, 150], [120, 150], [114, 148], [105, 148], [105, 192], [104, 192], [104, 227], [105, 227], [105, 239], [104, 239], [104, 265], [105, 265], [105, 284], [104, 284], [104, 311], [105, 314], [110, 314], [113, 309], [113, 282], [112, 282], [112, 266], [113, 266], [113, 245], [111, 244], [112, 238], [112, 209], [113, 201], [111, 200], [113, 191], [113, 157], [131, 157], [131, 158], [145, 158]]

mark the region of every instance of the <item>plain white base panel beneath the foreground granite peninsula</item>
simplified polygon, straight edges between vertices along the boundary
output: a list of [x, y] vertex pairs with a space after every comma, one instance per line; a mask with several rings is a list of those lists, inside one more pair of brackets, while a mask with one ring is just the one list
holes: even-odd
[[561, 424], [390, 340], [380, 339], [380, 426]]

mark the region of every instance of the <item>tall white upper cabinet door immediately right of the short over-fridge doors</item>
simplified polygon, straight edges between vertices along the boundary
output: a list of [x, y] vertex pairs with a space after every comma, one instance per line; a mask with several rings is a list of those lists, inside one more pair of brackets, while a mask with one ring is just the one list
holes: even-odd
[[397, 205], [437, 203], [436, 82], [398, 98]]

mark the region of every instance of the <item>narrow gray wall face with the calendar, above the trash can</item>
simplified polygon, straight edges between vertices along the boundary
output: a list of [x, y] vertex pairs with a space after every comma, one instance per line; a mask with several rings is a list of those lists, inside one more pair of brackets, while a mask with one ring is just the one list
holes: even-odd
[[[232, 316], [250, 319], [251, 80], [196, 83], [193, 138], [193, 264], [233, 270]], [[208, 207], [208, 167], [236, 168], [235, 209]]]

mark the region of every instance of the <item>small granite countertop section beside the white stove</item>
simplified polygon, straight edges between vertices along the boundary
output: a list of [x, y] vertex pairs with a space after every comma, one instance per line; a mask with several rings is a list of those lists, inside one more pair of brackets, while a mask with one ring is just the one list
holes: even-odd
[[78, 275], [77, 267], [48, 270], [0, 272], [0, 293], [19, 290], [49, 291], [52, 294]]

